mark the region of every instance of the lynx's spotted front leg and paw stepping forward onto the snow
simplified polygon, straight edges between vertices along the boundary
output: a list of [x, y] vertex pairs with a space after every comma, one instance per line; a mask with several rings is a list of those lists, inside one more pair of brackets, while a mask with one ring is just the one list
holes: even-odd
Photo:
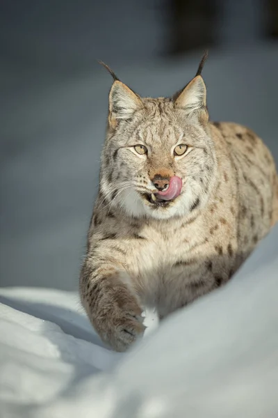
[[101, 339], [117, 351], [125, 351], [142, 335], [142, 309], [123, 270], [88, 258], [81, 271], [81, 302]]

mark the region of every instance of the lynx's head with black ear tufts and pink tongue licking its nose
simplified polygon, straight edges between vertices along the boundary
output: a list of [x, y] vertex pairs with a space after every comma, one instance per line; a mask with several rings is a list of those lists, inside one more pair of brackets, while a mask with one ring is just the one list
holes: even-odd
[[[100, 191], [132, 217], [191, 215], [206, 204], [216, 170], [201, 72], [172, 98], [141, 98], [114, 78]], [[107, 68], [107, 66], [106, 66]]]

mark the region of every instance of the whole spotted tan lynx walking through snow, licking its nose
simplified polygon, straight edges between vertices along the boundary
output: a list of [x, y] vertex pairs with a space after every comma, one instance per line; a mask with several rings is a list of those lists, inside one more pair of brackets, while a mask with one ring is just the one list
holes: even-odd
[[275, 162], [247, 127], [212, 122], [201, 72], [172, 98], [109, 94], [99, 193], [80, 275], [101, 339], [124, 351], [145, 330], [224, 285], [278, 219]]

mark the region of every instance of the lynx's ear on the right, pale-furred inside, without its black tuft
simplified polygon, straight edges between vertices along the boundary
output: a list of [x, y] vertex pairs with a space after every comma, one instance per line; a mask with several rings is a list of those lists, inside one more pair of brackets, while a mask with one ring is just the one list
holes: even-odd
[[206, 86], [201, 75], [194, 77], [188, 85], [174, 98], [178, 109], [183, 109], [186, 116], [202, 115], [206, 111]]

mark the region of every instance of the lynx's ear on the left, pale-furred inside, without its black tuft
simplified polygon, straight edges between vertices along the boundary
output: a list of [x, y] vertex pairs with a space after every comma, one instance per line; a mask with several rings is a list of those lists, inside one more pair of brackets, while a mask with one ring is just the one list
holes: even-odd
[[138, 109], [142, 109], [140, 96], [120, 80], [115, 80], [109, 93], [109, 124], [115, 127], [118, 119], [129, 119]]

